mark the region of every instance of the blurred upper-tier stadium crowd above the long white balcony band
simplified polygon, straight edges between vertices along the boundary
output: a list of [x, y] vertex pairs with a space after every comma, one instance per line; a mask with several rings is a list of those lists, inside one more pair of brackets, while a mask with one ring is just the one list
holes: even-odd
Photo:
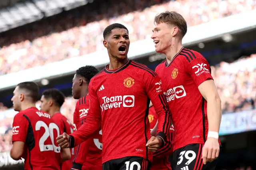
[[135, 42], [151, 36], [154, 16], [166, 10], [176, 10], [184, 16], [188, 26], [194, 26], [255, 8], [256, 0], [92, 3], [3, 33], [0, 36], [0, 75], [102, 50], [102, 32], [115, 22], [127, 26], [130, 41]]

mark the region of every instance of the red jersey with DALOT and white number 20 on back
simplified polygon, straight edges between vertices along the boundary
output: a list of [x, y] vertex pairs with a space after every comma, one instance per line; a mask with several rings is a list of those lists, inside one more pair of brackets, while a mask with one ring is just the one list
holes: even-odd
[[22, 141], [25, 159], [25, 170], [60, 170], [60, 164], [55, 152], [60, 152], [60, 146], [54, 145], [60, 135], [58, 126], [48, 113], [39, 111], [36, 107], [30, 107], [20, 111], [13, 120], [12, 142]]

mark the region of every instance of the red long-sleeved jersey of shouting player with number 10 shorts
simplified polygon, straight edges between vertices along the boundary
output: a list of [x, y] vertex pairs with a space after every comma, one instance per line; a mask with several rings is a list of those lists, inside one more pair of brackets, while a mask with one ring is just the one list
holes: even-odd
[[105, 69], [89, 84], [90, 110], [86, 122], [70, 137], [70, 146], [88, 139], [102, 125], [102, 163], [127, 156], [152, 161], [146, 147], [150, 139], [150, 100], [158, 113], [158, 136], [166, 138], [170, 111], [160, 78], [145, 65], [128, 60], [116, 70]]

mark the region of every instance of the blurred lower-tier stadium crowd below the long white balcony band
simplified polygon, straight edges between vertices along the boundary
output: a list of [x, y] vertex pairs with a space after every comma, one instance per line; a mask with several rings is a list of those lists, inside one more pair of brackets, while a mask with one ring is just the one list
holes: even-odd
[[[240, 67], [237, 67], [240, 65]], [[244, 67], [242, 67], [242, 66]], [[216, 82], [222, 100], [222, 112], [232, 113], [255, 109], [256, 107], [256, 54], [239, 59], [234, 63], [221, 62], [211, 66], [212, 77]], [[40, 101], [37, 102], [39, 108]], [[61, 113], [73, 122], [76, 100], [66, 97]], [[0, 103], [0, 113], [8, 108]], [[13, 117], [0, 114], [0, 152], [10, 149]]]

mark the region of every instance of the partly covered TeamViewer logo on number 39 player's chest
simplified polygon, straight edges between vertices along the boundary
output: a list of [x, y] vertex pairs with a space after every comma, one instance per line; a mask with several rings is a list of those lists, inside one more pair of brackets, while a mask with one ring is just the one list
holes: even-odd
[[174, 99], [179, 99], [187, 95], [183, 85], [173, 87], [166, 92], [164, 92], [167, 102], [173, 101]]

